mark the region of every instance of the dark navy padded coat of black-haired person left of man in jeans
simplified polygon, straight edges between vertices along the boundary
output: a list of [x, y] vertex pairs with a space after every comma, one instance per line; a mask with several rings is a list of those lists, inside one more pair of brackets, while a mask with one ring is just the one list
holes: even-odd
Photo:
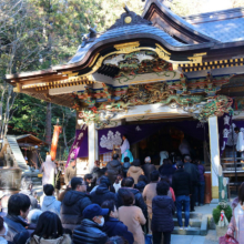
[[152, 231], [172, 232], [174, 230], [173, 214], [175, 206], [172, 197], [167, 195], [156, 195], [152, 201]]

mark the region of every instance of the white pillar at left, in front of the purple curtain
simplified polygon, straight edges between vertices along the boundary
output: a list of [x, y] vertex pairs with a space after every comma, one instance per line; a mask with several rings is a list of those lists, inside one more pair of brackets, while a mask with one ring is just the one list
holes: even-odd
[[88, 144], [89, 144], [89, 170], [94, 166], [95, 160], [99, 160], [99, 138], [95, 124], [92, 123], [88, 128]]

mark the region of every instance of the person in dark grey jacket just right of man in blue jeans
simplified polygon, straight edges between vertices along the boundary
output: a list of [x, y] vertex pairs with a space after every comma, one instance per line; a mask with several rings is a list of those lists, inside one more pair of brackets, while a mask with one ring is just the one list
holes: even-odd
[[197, 167], [191, 163], [191, 156], [186, 155], [184, 157], [184, 171], [187, 172], [191, 176], [192, 182], [192, 194], [191, 194], [191, 212], [195, 211], [195, 185], [199, 183], [199, 171]]

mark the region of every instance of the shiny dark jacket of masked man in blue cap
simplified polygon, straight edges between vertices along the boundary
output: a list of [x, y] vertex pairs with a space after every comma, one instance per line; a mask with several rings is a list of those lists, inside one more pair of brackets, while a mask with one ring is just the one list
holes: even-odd
[[73, 244], [105, 244], [108, 235], [96, 223], [84, 218], [81, 225], [74, 228], [72, 241]]

